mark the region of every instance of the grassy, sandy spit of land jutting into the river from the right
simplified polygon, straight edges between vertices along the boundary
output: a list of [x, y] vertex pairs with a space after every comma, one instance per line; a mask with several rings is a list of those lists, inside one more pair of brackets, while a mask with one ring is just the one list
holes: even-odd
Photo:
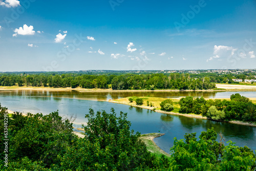
[[[180, 97], [182, 98], [182, 97]], [[142, 109], [147, 109], [147, 110], [152, 110], [158, 113], [164, 113], [164, 114], [169, 114], [169, 115], [180, 115], [180, 116], [185, 116], [185, 117], [189, 117], [189, 118], [197, 118], [197, 119], [208, 119], [205, 116], [202, 115], [195, 115], [195, 114], [181, 114], [178, 112], [179, 108], [177, 108], [177, 101], [179, 101], [180, 98], [171, 98], [174, 102], [174, 108], [175, 108], [175, 112], [166, 112], [166, 111], [161, 111], [160, 110], [160, 102], [165, 100], [166, 98], [154, 98], [157, 99], [157, 101], [154, 101], [154, 106], [146, 106], [144, 104], [142, 105], [136, 105], [135, 102], [130, 102], [128, 99], [129, 98], [121, 98], [121, 99], [114, 99], [114, 100], [109, 100], [109, 102], [113, 102], [113, 103], [119, 103], [119, 104], [125, 104], [125, 105], [130, 105], [136, 108], [142, 108]], [[150, 97], [145, 97], [145, 99], [148, 99], [150, 102]], [[118, 101], [117, 101], [118, 100]], [[256, 98], [250, 98], [250, 100], [255, 101]], [[144, 102], [145, 103], [145, 102]], [[211, 119], [209, 119], [211, 120]], [[218, 120], [215, 120], [218, 121]], [[242, 121], [228, 121], [229, 123], [233, 123], [233, 124], [240, 124], [240, 125], [246, 125], [246, 126], [254, 126], [256, 127], [255, 123], [251, 123], [251, 122], [242, 122]]]

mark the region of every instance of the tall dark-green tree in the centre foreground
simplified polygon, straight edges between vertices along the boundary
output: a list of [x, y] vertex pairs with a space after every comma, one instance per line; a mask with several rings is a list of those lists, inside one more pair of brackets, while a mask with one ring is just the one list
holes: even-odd
[[140, 133], [130, 130], [127, 113], [117, 117], [114, 109], [108, 114], [90, 109], [86, 137], [79, 139], [62, 159], [61, 168], [70, 170], [142, 169], [150, 159]]

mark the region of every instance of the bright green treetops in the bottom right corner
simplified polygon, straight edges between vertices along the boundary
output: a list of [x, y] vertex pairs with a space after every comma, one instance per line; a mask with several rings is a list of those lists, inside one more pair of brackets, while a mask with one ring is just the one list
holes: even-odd
[[174, 139], [170, 148], [171, 170], [254, 170], [256, 156], [248, 147], [227, 146], [216, 141], [213, 128], [202, 132], [197, 141], [196, 133], [186, 134], [185, 142]]

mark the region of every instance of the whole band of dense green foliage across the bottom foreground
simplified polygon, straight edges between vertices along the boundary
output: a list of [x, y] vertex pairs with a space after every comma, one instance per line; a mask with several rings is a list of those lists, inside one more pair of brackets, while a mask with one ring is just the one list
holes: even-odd
[[[90, 109], [83, 126], [86, 136], [72, 133], [72, 123], [58, 112], [49, 115], [20, 113], [9, 117], [0, 105], [1, 170], [254, 170], [256, 157], [248, 147], [216, 141], [213, 129], [175, 138], [170, 157], [147, 151], [140, 134], [130, 130], [126, 114], [114, 109]], [[4, 118], [8, 117], [8, 168], [4, 166]]]

